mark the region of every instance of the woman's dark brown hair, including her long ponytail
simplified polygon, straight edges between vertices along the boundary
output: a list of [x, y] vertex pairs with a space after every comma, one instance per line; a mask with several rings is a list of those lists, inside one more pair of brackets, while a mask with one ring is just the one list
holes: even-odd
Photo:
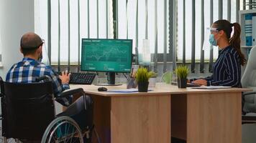
[[[240, 34], [241, 34], [241, 27], [238, 23], [231, 24], [227, 20], [218, 20], [214, 22], [214, 25], [217, 26], [217, 30], [223, 30], [227, 34], [227, 38], [229, 39], [229, 43], [231, 46], [237, 50], [239, 57], [240, 57], [240, 64], [242, 66], [246, 63], [246, 59], [244, 58], [244, 54], [242, 54], [240, 43]], [[234, 26], [234, 34], [232, 37], [231, 32], [232, 32], [232, 26]]]

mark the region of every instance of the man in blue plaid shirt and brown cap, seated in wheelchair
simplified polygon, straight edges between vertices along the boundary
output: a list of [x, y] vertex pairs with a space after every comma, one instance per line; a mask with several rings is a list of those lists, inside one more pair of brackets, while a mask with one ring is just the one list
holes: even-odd
[[[36, 82], [37, 78], [47, 76], [52, 81], [55, 97], [59, 97], [64, 90], [70, 88], [68, 85], [70, 74], [62, 72], [59, 76], [51, 66], [41, 62], [43, 44], [44, 41], [35, 33], [29, 32], [22, 36], [19, 50], [24, 55], [24, 58], [9, 69], [6, 75], [6, 82], [33, 83]], [[93, 102], [91, 97], [85, 95], [73, 102], [73, 96], [70, 95], [56, 98], [56, 101], [67, 107], [64, 112], [57, 115], [58, 117], [67, 116], [73, 118], [82, 132], [93, 128]], [[90, 142], [91, 133], [86, 136], [86, 140]]]

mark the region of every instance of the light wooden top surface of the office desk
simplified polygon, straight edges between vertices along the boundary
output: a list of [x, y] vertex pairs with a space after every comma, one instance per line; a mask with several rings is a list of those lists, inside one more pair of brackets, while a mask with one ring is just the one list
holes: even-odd
[[[132, 92], [132, 93], [117, 93], [117, 92], [98, 92], [98, 88], [102, 86], [95, 85], [82, 85], [82, 84], [70, 84], [70, 89], [83, 88], [86, 94], [100, 95], [104, 97], [116, 97], [116, 96], [137, 96], [137, 95], [168, 95], [168, 94], [189, 94], [189, 93], [217, 93], [217, 92], [250, 92], [252, 89], [241, 89], [241, 88], [229, 88], [229, 89], [192, 89], [187, 87], [186, 89], [178, 89], [177, 86], [173, 86], [165, 83], [157, 83], [156, 87], [151, 87], [153, 89], [150, 92]], [[126, 89], [127, 85], [123, 84], [121, 86], [104, 86], [108, 90], [111, 89]]]

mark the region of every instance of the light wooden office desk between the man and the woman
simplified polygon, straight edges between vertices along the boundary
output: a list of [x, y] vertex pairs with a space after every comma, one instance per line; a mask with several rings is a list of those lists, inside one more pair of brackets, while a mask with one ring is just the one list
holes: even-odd
[[[104, 143], [241, 143], [241, 92], [250, 89], [178, 89], [159, 83], [152, 92], [98, 92], [82, 87], [94, 100], [94, 123]], [[126, 86], [107, 87], [125, 89]]]

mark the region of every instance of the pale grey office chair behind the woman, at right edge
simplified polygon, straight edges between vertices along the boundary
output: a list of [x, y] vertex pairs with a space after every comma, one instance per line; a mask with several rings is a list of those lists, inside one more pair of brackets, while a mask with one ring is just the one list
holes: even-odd
[[[253, 46], [247, 61], [247, 66], [241, 79], [242, 87], [253, 89], [253, 92], [245, 92], [243, 96], [244, 114], [256, 113], [256, 46]], [[256, 116], [242, 116], [242, 124], [256, 123]]]

